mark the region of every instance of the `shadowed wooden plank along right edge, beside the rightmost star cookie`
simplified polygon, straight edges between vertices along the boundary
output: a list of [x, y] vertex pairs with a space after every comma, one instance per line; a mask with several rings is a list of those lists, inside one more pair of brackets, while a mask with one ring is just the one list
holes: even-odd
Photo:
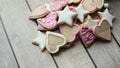
[[110, 0], [109, 4], [111, 13], [116, 17], [113, 23], [112, 33], [120, 45], [120, 0]]

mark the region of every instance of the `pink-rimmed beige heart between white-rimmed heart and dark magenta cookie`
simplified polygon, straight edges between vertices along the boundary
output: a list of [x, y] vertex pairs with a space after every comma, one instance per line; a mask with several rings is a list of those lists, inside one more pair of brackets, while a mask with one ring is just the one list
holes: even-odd
[[72, 43], [75, 41], [76, 36], [79, 32], [79, 25], [73, 24], [73, 26], [69, 26], [66, 24], [60, 25], [60, 32], [65, 36], [68, 43]]

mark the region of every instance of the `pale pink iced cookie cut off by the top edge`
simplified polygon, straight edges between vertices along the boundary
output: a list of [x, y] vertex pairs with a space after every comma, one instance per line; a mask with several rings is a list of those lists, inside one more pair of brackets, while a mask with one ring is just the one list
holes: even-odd
[[68, 0], [49, 0], [53, 11], [59, 11], [68, 4]]

